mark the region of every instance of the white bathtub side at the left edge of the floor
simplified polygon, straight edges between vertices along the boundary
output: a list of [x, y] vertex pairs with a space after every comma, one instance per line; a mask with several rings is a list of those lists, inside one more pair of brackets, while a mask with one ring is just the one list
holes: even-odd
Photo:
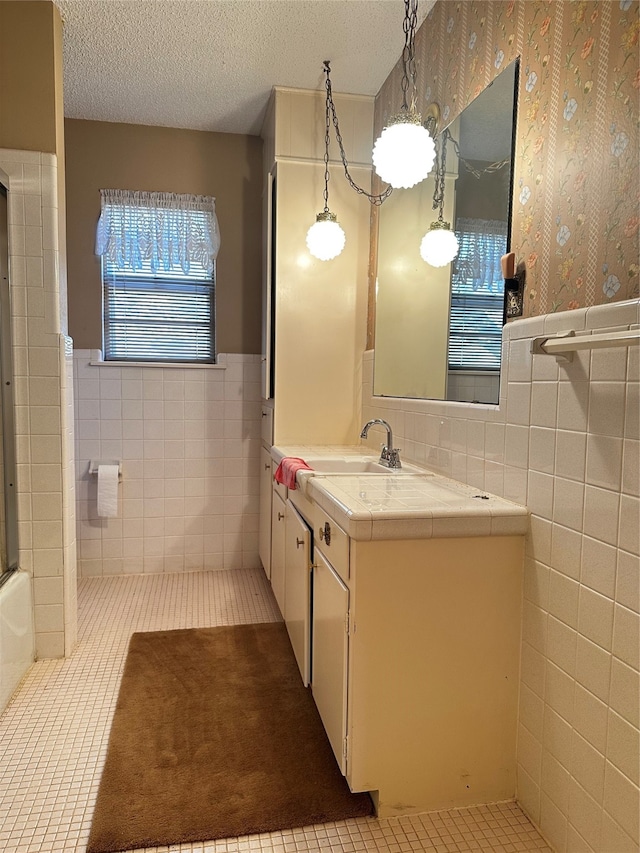
[[31, 578], [17, 571], [0, 587], [0, 712], [34, 659]]

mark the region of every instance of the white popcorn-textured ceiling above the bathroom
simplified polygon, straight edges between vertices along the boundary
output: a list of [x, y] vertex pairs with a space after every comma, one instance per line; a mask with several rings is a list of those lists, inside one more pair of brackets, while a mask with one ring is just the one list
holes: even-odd
[[[423, 0], [419, 22], [435, 0]], [[65, 116], [260, 132], [272, 86], [375, 95], [404, 0], [55, 0]]]

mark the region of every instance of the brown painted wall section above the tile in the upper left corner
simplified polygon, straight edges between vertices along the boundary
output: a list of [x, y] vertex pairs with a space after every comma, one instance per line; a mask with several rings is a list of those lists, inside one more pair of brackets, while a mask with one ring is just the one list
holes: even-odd
[[49, 0], [0, 2], [0, 148], [61, 153], [61, 26]]

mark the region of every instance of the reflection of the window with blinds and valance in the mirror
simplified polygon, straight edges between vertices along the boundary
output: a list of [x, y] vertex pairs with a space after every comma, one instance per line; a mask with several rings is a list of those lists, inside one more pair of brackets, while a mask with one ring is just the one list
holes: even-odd
[[499, 370], [507, 223], [458, 219], [451, 276], [450, 370]]

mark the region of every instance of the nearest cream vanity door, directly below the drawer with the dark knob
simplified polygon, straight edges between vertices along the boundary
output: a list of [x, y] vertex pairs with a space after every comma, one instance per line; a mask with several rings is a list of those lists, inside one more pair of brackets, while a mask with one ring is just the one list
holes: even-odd
[[333, 754], [346, 774], [349, 590], [324, 555], [315, 553], [311, 690]]

